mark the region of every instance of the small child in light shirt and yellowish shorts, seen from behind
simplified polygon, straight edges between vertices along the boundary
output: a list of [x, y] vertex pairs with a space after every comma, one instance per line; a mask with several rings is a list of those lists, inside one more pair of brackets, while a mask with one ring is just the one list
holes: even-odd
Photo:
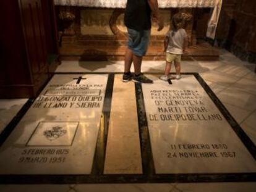
[[[173, 16], [172, 29], [168, 31], [164, 40], [166, 66], [164, 75], [160, 77], [161, 80], [167, 81], [169, 78], [179, 80], [181, 78], [181, 55], [188, 45], [187, 33], [184, 30], [185, 22], [184, 14], [178, 13]], [[169, 75], [172, 62], [175, 65], [176, 77]]]

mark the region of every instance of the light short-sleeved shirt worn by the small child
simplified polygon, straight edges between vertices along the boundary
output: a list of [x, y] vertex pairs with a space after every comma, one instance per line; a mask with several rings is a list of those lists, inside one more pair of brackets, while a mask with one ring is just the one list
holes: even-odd
[[172, 54], [182, 54], [184, 38], [187, 38], [186, 30], [184, 30], [184, 28], [180, 28], [177, 31], [169, 30], [166, 36], [168, 36], [169, 38], [169, 43], [166, 52]]

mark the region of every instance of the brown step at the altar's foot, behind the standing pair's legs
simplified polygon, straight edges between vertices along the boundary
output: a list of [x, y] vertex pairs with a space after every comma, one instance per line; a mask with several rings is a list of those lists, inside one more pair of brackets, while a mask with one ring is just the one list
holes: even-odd
[[[102, 44], [63, 44], [60, 49], [62, 60], [80, 60], [80, 61], [109, 61], [124, 60], [126, 46], [113, 46]], [[219, 52], [216, 48], [205, 42], [190, 46], [187, 54], [182, 56], [184, 60], [217, 60]], [[165, 54], [163, 46], [150, 46], [145, 60], [164, 60]]]

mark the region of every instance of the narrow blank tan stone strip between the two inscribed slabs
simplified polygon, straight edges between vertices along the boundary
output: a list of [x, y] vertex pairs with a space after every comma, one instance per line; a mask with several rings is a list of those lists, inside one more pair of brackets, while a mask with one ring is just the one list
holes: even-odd
[[105, 174], [142, 174], [135, 86], [115, 75], [106, 146]]

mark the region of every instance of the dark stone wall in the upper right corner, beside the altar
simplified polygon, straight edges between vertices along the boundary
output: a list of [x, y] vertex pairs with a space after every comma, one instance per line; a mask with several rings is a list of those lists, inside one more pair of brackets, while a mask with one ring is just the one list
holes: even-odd
[[216, 40], [244, 61], [256, 63], [256, 1], [223, 1]]

